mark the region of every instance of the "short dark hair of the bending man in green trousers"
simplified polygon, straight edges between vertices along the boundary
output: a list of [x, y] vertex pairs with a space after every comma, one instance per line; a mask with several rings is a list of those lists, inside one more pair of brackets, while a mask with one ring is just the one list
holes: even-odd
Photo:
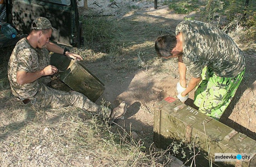
[[157, 37], [155, 41], [156, 53], [160, 57], [168, 57], [171, 55], [172, 49], [176, 46], [177, 40], [174, 35], [163, 35]]

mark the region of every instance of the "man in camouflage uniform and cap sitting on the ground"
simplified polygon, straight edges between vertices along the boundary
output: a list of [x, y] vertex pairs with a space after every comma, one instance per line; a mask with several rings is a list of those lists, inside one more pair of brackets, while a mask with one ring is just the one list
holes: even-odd
[[102, 108], [81, 93], [55, 90], [47, 86], [51, 81], [50, 76], [58, 72], [55, 66], [50, 65], [49, 52], [83, 60], [80, 55], [49, 42], [54, 30], [48, 19], [37, 17], [32, 22], [29, 35], [16, 44], [8, 63], [8, 78], [13, 95], [34, 108], [73, 105], [96, 115], [105, 115], [105, 118], [110, 118], [109, 123], [121, 118], [127, 110], [124, 101], [111, 112], [110, 108]]

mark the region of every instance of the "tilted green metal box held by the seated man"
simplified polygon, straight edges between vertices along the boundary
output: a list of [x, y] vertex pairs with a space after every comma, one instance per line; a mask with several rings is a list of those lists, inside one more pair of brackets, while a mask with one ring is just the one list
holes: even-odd
[[105, 85], [81, 62], [62, 54], [53, 53], [51, 65], [58, 68], [59, 79], [74, 91], [80, 92], [95, 102], [105, 90]]

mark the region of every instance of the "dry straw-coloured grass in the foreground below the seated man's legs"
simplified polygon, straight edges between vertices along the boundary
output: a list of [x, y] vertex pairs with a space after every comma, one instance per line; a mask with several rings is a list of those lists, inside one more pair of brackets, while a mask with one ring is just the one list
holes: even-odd
[[74, 107], [33, 110], [15, 104], [6, 114], [8, 108], [0, 113], [6, 122], [0, 140], [3, 166], [159, 166], [157, 159], [166, 152], [142, 152], [143, 139], [133, 140], [130, 132]]

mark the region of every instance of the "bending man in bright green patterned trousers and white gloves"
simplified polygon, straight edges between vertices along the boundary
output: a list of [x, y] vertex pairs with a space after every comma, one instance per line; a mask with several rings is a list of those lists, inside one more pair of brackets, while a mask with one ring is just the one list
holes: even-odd
[[[242, 81], [242, 51], [227, 34], [209, 23], [182, 21], [175, 33], [176, 36], [159, 36], [155, 49], [160, 57], [178, 57], [177, 98], [185, 102], [188, 93], [196, 88], [194, 104], [198, 110], [219, 120]], [[192, 75], [188, 84], [187, 69]]]

